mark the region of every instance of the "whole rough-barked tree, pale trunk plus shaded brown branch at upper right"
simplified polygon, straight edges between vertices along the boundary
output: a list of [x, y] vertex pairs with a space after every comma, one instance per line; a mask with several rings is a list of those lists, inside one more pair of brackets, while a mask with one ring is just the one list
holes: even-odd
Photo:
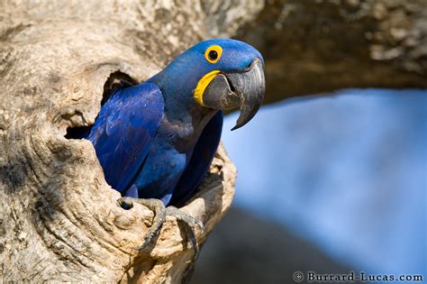
[[[397, 3], [397, 4], [396, 4]], [[114, 78], [149, 78], [196, 41], [240, 38], [266, 56], [268, 96], [337, 87], [426, 87], [423, 1], [126, 1], [0, 4], [0, 279], [179, 282], [193, 252], [168, 218], [123, 210], [87, 141]], [[271, 95], [278, 96], [271, 96]], [[183, 209], [203, 243], [232, 202], [223, 148]]]

